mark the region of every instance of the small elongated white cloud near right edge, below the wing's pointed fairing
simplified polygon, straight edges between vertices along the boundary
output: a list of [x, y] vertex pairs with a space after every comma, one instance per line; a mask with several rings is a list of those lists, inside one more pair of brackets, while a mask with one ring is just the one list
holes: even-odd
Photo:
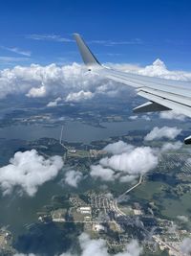
[[145, 141], [151, 141], [155, 139], [161, 139], [161, 138], [168, 138], [168, 139], [174, 139], [176, 138], [181, 132], [180, 128], [169, 128], [169, 127], [163, 127], [163, 128], [153, 128], [145, 137]]

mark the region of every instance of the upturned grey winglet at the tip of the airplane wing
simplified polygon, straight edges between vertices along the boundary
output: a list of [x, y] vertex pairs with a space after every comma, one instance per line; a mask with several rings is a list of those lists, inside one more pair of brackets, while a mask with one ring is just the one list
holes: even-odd
[[74, 39], [78, 46], [81, 57], [87, 66], [101, 65], [80, 35], [75, 33]]

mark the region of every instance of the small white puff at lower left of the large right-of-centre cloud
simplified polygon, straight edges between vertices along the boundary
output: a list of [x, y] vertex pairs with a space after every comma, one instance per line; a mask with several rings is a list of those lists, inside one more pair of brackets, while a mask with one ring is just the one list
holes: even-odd
[[93, 177], [100, 177], [105, 181], [113, 181], [115, 179], [115, 172], [109, 168], [103, 168], [101, 165], [92, 165], [90, 175]]

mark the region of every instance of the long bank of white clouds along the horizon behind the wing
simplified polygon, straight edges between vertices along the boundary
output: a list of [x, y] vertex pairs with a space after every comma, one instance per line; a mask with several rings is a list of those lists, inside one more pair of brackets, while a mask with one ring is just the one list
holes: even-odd
[[[55, 35], [48, 37], [58, 38]], [[36, 38], [41, 37], [37, 36]], [[111, 66], [121, 71], [133, 72], [135, 74], [191, 81], [191, 73], [169, 71], [159, 59], [146, 67], [132, 64], [111, 64]], [[12, 69], [0, 71], [0, 98], [4, 98], [9, 94], [26, 94], [28, 97], [45, 97], [50, 95], [54, 97], [61, 94], [65, 98], [69, 96], [70, 100], [72, 96], [74, 98], [77, 96], [73, 95], [73, 93], [77, 94], [83, 91], [86, 95], [82, 94], [82, 100], [85, 100], [100, 94], [116, 97], [118, 93], [124, 92], [124, 90], [128, 90], [128, 86], [116, 86], [115, 81], [108, 81], [97, 76], [96, 73], [87, 72], [85, 67], [76, 63], [61, 67], [56, 64], [47, 66], [32, 64], [31, 66], [15, 66]]]

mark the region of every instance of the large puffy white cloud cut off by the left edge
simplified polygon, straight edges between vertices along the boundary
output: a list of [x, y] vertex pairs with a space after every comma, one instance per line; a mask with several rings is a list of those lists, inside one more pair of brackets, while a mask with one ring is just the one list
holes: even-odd
[[4, 195], [11, 194], [13, 188], [34, 196], [40, 185], [53, 179], [63, 167], [60, 156], [45, 159], [37, 151], [18, 151], [10, 159], [10, 164], [0, 168], [0, 187]]

